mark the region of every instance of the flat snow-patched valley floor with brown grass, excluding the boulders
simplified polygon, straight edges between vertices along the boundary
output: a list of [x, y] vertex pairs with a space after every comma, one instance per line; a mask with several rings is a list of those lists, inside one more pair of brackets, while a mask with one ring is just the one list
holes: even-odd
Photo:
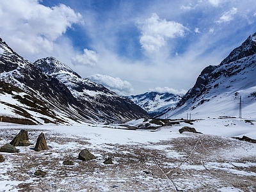
[[[135, 125], [141, 120], [131, 121]], [[196, 131], [179, 133], [184, 127]], [[207, 118], [156, 130], [127, 130], [120, 125], [17, 125], [1, 123], [0, 144], [20, 129], [31, 145], [4, 153], [1, 191], [255, 191], [256, 127], [239, 118]], [[49, 150], [33, 150], [44, 132]], [[97, 158], [77, 159], [87, 148]], [[104, 164], [111, 157], [113, 164]], [[64, 165], [69, 159], [73, 165]], [[36, 170], [47, 173], [34, 175]]]

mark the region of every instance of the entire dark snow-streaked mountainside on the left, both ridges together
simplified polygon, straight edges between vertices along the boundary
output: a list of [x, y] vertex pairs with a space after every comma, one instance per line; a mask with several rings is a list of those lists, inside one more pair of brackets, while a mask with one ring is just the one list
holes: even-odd
[[0, 39], [0, 116], [45, 122], [126, 122], [146, 111], [104, 86], [81, 78], [55, 58], [31, 63]]

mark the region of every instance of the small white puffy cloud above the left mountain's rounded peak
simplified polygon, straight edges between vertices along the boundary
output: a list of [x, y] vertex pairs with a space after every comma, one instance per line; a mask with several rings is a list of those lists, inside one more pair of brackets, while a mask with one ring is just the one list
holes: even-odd
[[83, 54], [77, 54], [76, 57], [71, 58], [73, 65], [86, 65], [93, 67], [98, 63], [99, 56], [95, 51], [84, 49]]

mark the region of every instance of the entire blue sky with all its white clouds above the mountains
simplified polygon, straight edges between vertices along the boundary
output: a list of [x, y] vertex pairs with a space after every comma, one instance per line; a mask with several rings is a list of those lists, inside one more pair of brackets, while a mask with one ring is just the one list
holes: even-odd
[[0, 0], [0, 37], [120, 95], [184, 93], [256, 32], [255, 0]]

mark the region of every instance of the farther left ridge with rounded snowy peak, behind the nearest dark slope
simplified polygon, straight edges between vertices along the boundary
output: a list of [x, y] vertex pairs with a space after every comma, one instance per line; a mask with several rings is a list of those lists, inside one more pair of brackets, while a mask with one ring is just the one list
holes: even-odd
[[113, 122], [125, 122], [132, 118], [148, 116], [143, 109], [130, 100], [123, 99], [101, 84], [83, 79], [56, 58], [43, 58], [35, 61], [34, 65], [39, 67], [44, 74], [65, 84], [70, 93], [84, 105], [86, 113], [92, 113], [98, 121], [107, 119]]

